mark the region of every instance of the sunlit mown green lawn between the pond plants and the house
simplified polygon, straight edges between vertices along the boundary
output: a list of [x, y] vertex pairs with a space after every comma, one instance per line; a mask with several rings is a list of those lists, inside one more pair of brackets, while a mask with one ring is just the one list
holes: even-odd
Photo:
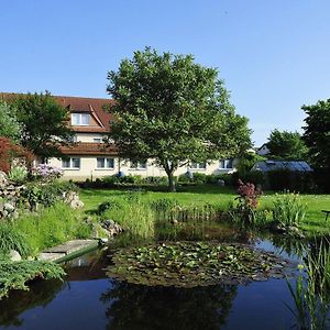
[[[127, 191], [128, 189], [81, 189], [80, 197], [85, 202], [86, 210], [92, 210], [109, 198], [121, 198], [128, 194]], [[265, 193], [261, 197], [260, 207], [271, 208], [274, 196], [274, 193]], [[208, 202], [223, 209], [235, 197], [237, 194], [231, 188], [206, 185], [179, 187], [177, 193], [167, 193], [166, 190], [141, 193], [141, 199], [145, 201], [173, 198], [183, 205], [201, 205]], [[310, 232], [330, 233], [330, 218], [326, 222], [324, 213], [321, 212], [323, 209], [330, 210], [330, 195], [301, 195], [301, 198], [307, 204], [307, 215], [302, 223], [304, 229]]]

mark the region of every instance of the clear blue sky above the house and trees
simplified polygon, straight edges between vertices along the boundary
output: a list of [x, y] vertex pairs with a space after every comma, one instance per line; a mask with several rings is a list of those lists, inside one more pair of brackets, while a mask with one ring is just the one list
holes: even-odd
[[0, 91], [108, 97], [145, 46], [218, 67], [256, 145], [330, 98], [329, 0], [1, 0]]

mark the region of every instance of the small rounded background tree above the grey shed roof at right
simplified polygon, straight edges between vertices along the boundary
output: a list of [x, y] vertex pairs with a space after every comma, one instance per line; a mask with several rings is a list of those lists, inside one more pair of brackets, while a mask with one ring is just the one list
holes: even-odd
[[[308, 148], [298, 132], [273, 130], [268, 138], [270, 156], [282, 160], [306, 160]], [[268, 156], [268, 155], [267, 155]]]

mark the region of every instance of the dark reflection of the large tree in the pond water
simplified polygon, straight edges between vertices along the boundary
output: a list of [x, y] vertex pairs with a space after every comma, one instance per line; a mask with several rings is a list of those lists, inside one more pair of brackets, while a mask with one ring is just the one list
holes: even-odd
[[112, 282], [101, 296], [109, 305], [107, 329], [220, 329], [232, 308], [237, 286], [148, 287]]

